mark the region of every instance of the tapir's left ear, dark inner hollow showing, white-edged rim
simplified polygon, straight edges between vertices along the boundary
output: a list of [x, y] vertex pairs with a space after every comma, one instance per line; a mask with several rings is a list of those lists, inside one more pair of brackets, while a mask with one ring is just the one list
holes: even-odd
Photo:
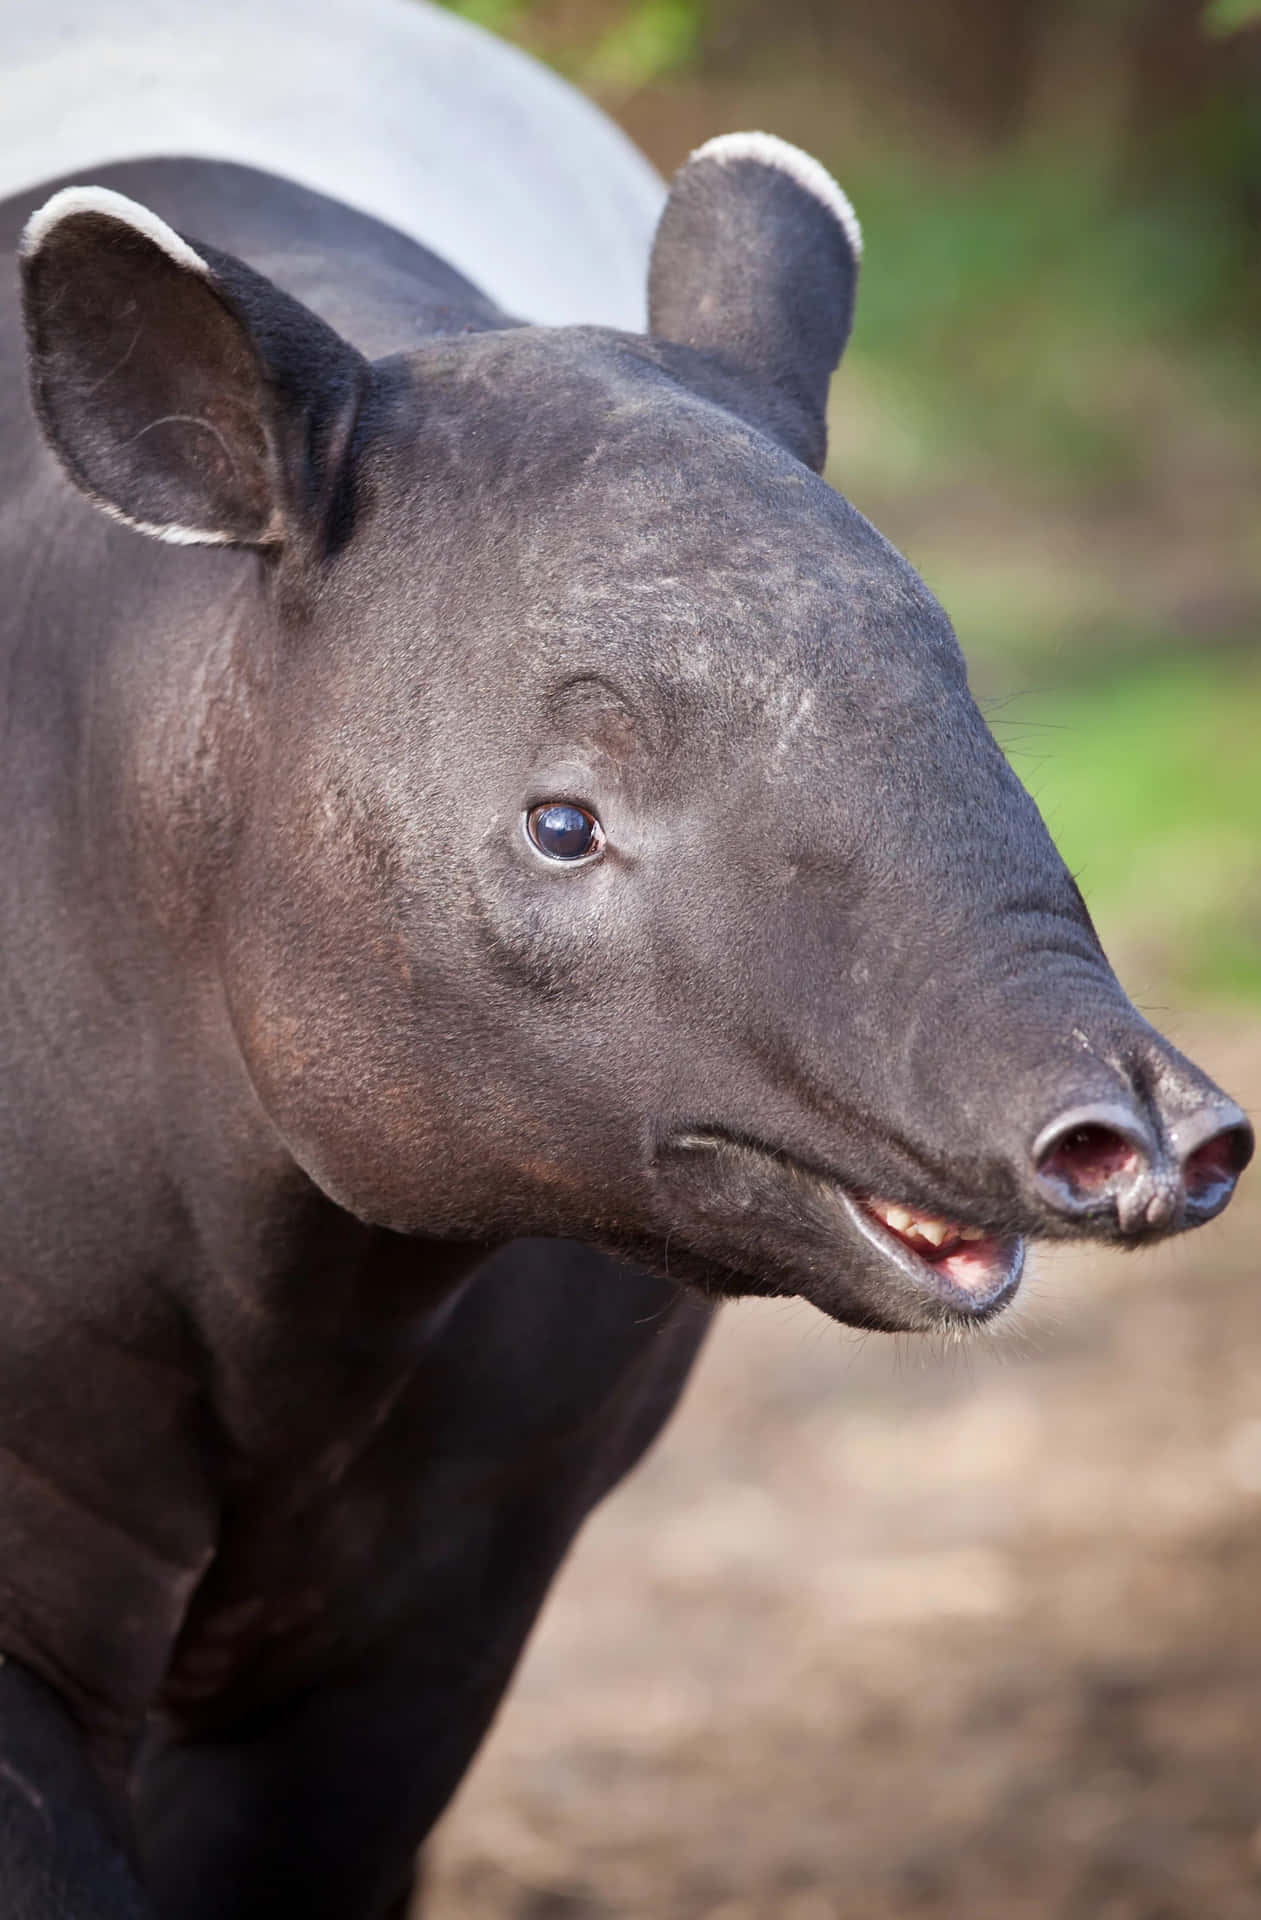
[[188, 545], [274, 545], [328, 511], [367, 361], [271, 280], [102, 186], [27, 223], [35, 409], [106, 513]]

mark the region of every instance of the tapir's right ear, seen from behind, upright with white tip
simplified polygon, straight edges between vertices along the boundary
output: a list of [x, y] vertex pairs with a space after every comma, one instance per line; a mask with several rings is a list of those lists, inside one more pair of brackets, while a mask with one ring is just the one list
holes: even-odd
[[679, 167], [649, 269], [649, 332], [743, 376], [752, 415], [816, 472], [854, 321], [862, 228], [800, 148], [727, 132]]

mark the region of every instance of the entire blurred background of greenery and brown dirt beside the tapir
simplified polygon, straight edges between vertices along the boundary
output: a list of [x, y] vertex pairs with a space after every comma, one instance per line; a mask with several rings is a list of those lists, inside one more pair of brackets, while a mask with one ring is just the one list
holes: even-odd
[[[1138, 1004], [1261, 1106], [1261, 0], [461, 0], [868, 252], [829, 478]], [[726, 1309], [553, 1596], [438, 1920], [1261, 1916], [1261, 1177], [942, 1350]]]

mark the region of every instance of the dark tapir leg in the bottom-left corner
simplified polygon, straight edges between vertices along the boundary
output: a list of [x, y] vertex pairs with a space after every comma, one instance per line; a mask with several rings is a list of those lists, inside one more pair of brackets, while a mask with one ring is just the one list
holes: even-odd
[[12, 1659], [0, 1661], [0, 1912], [154, 1920], [75, 1720]]

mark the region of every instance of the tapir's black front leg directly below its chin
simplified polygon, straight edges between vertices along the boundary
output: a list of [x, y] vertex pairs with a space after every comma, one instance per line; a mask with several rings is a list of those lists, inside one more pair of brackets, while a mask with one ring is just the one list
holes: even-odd
[[582, 1246], [516, 1242], [480, 1269], [380, 1434], [399, 1536], [361, 1603], [405, 1580], [407, 1622], [228, 1724], [155, 1722], [134, 1807], [161, 1920], [401, 1920], [557, 1567], [706, 1323]]

